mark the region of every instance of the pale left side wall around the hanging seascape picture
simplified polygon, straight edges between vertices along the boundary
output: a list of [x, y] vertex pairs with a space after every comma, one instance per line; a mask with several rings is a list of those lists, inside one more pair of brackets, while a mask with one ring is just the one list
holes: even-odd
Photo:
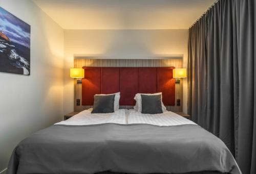
[[0, 1], [31, 25], [31, 75], [0, 72], [0, 172], [25, 137], [62, 119], [63, 30], [32, 1]]

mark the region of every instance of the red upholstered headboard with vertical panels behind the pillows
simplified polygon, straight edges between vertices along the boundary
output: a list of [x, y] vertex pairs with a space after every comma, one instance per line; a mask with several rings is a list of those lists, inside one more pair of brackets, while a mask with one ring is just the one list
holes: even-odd
[[95, 94], [121, 92], [120, 105], [135, 105], [136, 93], [162, 92], [166, 106], [175, 105], [174, 67], [83, 67], [82, 105]]

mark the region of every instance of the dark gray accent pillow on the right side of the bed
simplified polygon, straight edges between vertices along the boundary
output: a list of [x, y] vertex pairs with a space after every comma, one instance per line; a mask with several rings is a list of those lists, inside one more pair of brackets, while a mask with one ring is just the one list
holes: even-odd
[[142, 114], [161, 114], [163, 113], [161, 95], [142, 95]]

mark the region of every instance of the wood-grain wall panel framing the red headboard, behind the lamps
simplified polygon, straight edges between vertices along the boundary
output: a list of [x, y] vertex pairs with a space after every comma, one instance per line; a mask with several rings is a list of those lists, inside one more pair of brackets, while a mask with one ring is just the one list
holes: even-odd
[[[182, 67], [182, 59], [87, 59], [87, 58], [75, 58], [74, 67], [81, 68], [83, 66], [94, 66], [94, 67], [168, 67], [174, 66], [176, 68]], [[85, 109], [92, 108], [93, 106], [82, 106], [82, 85], [74, 82], [74, 111], [82, 111]], [[180, 84], [175, 85], [175, 101], [181, 100], [181, 106], [166, 106], [168, 111], [182, 112], [182, 80]], [[80, 99], [80, 106], [76, 106], [76, 100]], [[133, 106], [121, 106], [120, 108], [132, 109]]]

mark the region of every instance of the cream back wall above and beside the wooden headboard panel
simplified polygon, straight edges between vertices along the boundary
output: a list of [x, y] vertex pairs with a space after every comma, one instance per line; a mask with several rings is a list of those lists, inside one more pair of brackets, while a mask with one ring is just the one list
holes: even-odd
[[[74, 108], [74, 81], [69, 77], [74, 56], [109, 59], [183, 56], [187, 66], [188, 30], [65, 30], [63, 112]], [[183, 111], [187, 110], [187, 83], [183, 79]]]

